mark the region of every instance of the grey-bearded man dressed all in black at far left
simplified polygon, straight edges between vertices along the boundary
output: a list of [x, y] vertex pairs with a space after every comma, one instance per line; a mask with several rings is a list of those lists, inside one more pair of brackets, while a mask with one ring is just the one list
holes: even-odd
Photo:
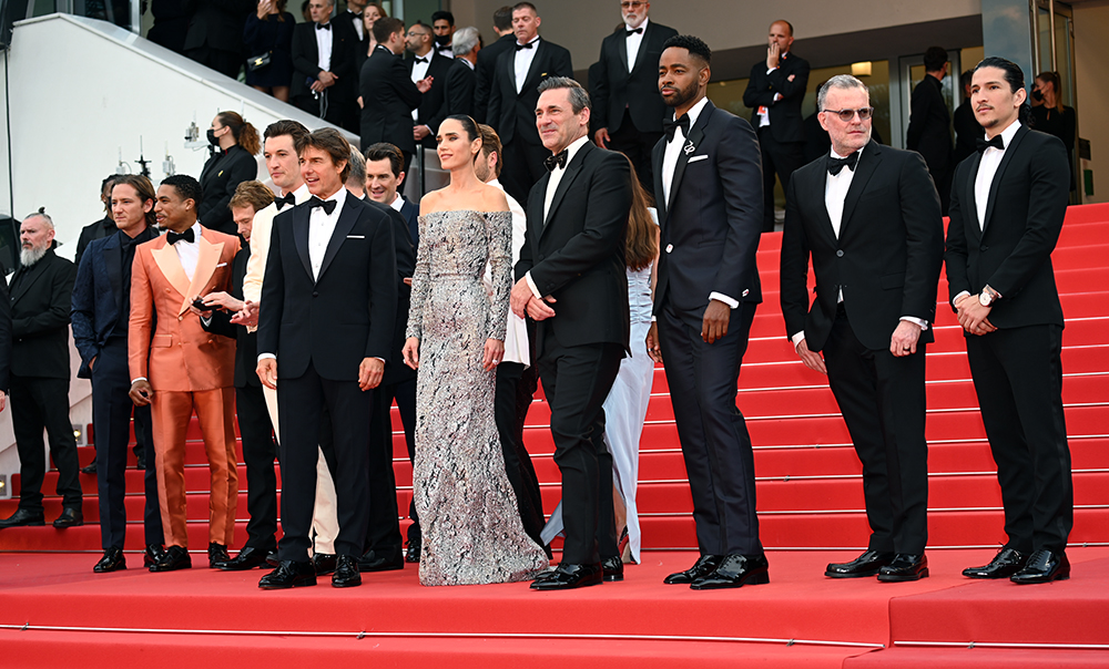
[[11, 278], [11, 426], [19, 451], [19, 508], [0, 528], [42, 525], [45, 428], [58, 467], [62, 513], [54, 527], [84, 524], [77, 442], [69, 420], [69, 313], [73, 264], [54, 255], [54, 224], [41, 209], [19, 227], [20, 267]]

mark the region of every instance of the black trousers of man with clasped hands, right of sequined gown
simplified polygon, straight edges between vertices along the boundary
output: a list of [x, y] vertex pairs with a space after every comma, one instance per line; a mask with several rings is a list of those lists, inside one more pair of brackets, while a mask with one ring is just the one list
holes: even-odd
[[568, 564], [597, 564], [619, 555], [602, 404], [622, 357], [623, 349], [614, 343], [563, 347], [550, 328], [539, 353], [554, 464], [562, 473], [562, 562]]

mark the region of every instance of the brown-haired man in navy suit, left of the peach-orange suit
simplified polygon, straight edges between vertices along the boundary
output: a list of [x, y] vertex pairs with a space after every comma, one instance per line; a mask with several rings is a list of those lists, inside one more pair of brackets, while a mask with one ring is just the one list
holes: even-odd
[[[126, 533], [124, 470], [131, 416], [144, 443], [153, 443], [150, 406], [135, 406], [128, 395], [128, 328], [131, 319], [131, 265], [135, 247], [157, 237], [154, 225], [154, 186], [141, 175], [120, 176], [112, 187], [112, 216], [119, 231], [89, 245], [78, 267], [73, 286], [73, 343], [81, 354], [78, 377], [92, 380], [92, 412], [96, 426], [96, 490], [100, 500], [100, 535], [104, 555], [93, 567], [98, 574], [125, 569], [123, 543]], [[157, 505], [154, 457], [146, 459], [143, 514], [150, 566], [161, 557], [162, 515]]]

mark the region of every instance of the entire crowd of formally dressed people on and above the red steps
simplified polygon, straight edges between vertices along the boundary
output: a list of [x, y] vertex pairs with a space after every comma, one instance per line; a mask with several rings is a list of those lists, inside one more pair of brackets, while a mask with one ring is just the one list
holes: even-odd
[[[328, 574], [352, 587], [406, 562], [419, 564], [424, 585], [622, 580], [624, 562], [639, 559], [639, 438], [659, 362], [700, 552], [665, 583], [765, 584], [752, 444], [735, 401], [763, 299], [755, 253], [772, 206], [767, 177], [792, 169], [785, 333], [827, 375], [863, 463], [872, 531], [866, 552], [825, 575], [928, 576], [925, 351], [946, 260], [1008, 535], [994, 560], [964, 574], [1069, 577], [1064, 321], [1049, 258], [1067, 151], [1028, 128], [1019, 68], [987, 58], [970, 75], [983, 136], [955, 168], [945, 241], [939, 181], [926, 157], [873, 140], [862, 81], [821, 86], [830, 148], [795, 165], [800, 113], [783, 107], [804, 90], [807, 64], [790, 51], [787, 22], [771, 25], [766, 62], [753, 69], [749, 122], [706, 97], [710, 48], [651, 22], [649, 8], [620, 2], [624, 24], [602, 45], [593, 96], [570, 78], [569, 53], [538, 37], [530, 2], [498, 10], [505, 33], [480, 51], [476, 31], [406, 32], [379, 12], [365, 33], [377, 43], [362, 68], [363, 83], [375, 82], [363, 88], [363, 151], [334, 128], [288, 120], [260, 137], [224, 112], [208, 131], [221, 151], [200, 179], [174, 175], [156, 189], [143, 176], [105, 179], [111, 225], [105, 217], [82, 233], [77, 266], [54, 255], [48, 215], [24, 218], [22, 265], [10, 299], [0, 296], [0, 385], [11, 391], [21, 498], [0, 527], [44, 522], [43, 428], [60, 471], [54, 526], [83, 522], [65, 405], [72, 323], [93, 382], [104, 549], [95, 572], [126, 567], [132, 420], [145, 450], [144, 563], [192, 566], [183, 463], [195, 413], [211, 476], [208, 564], [269, 565], [262, 588]], [[326, 0], [309, 11], [307, 41], [337, 44]], [[404, 43], [427, 62], [396, 58]], [[455, 62], [437, 65], [448, 48]], [[307, 91], [333, 89], [329, 72], [291, 90], [324, 117], [327, 95]], [[458, 73], [471, 75], [460, 79], [472, 79], [472, 96], [434, 92]], [[1057, 103], [1057, 83], [1037, 84], [1045, 104]], [[449, 183], [417, 205], [398, 188], [428, 141]], [[273, 191], [247, 168], [260, 151]], [[523, 442], [539, 380], [562, 477], [550, 518]], [[407, 546], [394, 402], [413, 460]], [[232, 558], [236, 408], [250, 522]], [[562, 560], [550, 568], [556, 534]]]

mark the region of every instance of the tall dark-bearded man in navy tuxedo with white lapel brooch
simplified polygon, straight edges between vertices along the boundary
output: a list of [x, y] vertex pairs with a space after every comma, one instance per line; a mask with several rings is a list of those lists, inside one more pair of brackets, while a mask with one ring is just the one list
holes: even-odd
[[754, 460], [736, 382], [762, 301], [759, 143], [705, 97], [712, 52], [692, 35], [663, 44], [659, 90], [673, 115], [654, 147], [662, 255], [648, 352], [665, 360], [701, 556], [667, 584], [694, 589], [770, 579], [755, 516]]

